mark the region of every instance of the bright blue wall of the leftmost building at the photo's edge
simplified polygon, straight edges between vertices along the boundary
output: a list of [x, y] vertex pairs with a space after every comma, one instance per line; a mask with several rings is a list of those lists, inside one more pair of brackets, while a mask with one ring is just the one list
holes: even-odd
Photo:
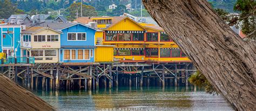
[[[1, 32], [3, 31], [3, 32]], [[7, 33], [4, 33], [6, 31], [13, 31], [14, 33], [11, 34], [7, 34]], [[5, 38], [3, 38], [2, 35], [5, 35]], [[14, 48], [16, 49], [17, 48], [17, 51], [16, 51], [16, 56], [19, 57], [21, 56], [21, 27], [1, 27], [0, 26], [0, 51], [2, 52], [3, 51], [3, 48], [5, 47], [11, 47], [12, 46], [12, 39], [11, 38], [14, 38]], [[3, 40], [3, 41], [2, 41]], [[2, 46], [3, 45], [3, 46]]]

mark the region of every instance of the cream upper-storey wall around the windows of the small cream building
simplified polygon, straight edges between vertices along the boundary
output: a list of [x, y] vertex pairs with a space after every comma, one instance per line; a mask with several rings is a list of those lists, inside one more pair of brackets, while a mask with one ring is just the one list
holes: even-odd
[[[34, 35], [45, 35], [45, 42], [34, 42]], [[47, 42], [47, 35], [58, 35], [58, 42]], [[31, 47], [32, 48], [41, 48], [41, 49], [48, 49], [48, 48], [60, 48], [60, 34], [52, 31], [51, 29], [44, 29], [41, 32], [32, 34], [31, 36]]]

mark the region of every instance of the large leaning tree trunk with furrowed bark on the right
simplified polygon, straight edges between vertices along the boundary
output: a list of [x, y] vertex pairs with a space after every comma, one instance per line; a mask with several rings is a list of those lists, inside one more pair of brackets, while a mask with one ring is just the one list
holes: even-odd
[[246, 43], [205, 0], [143, 0], [157, 23], [238, 110], [255, 110], [255, 42]]

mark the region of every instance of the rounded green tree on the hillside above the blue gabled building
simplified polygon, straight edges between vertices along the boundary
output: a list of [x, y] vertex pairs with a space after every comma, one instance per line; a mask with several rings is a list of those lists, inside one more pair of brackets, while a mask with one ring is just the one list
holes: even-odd
[[[81, 17], [81, 3], [73, 3], [69, 6], [68, 11], [70, 16], [68, 19], [73, 21], [78, 17]], [[97, 12], [93, 6], [83, 4], [83, 17], [97, 16]]]

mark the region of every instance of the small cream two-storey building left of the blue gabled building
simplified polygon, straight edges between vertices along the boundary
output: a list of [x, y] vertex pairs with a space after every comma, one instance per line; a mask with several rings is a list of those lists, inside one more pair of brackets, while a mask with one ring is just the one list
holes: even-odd
[[49, 27], [27, 27], [22, 32], [22, 56], [35, 57], [35, 63], [57, 63], [60, 33]]

